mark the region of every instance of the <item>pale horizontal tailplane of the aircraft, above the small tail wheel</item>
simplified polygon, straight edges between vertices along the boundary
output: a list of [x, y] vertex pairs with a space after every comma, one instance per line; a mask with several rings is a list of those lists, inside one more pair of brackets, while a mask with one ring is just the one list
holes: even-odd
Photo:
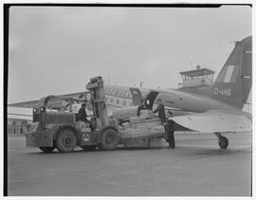
[[181, 126], [202, 133], [248, 132], [252, 125], [244, 113], [223, 110], [209, 110], [172, 119]]

